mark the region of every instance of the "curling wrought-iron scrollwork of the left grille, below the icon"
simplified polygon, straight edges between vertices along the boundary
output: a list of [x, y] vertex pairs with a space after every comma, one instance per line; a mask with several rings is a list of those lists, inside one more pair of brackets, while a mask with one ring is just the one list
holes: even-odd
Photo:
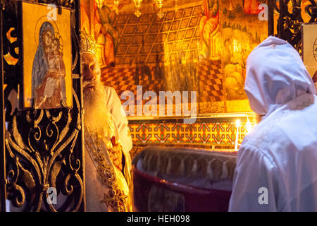
[[[79, 210], [84, 194], [78, 173], [82, 162], [74, 147], [81, 129], [80, 102], [75, 91], [73, 96], [72, 109], [16, 112], [8, 124], [7, 188], [14, 207], [25, 211]], [[58, 208], [46, 201], [49, 187], [65, 196], [65, 201], [57, 203]], [[73, 206], [66, 208], [63, 204], [68, 199]]]

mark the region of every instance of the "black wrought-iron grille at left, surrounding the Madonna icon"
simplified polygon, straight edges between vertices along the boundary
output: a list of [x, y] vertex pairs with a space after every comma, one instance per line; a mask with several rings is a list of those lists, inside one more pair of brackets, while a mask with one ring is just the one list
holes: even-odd
[[[80, 1], [32, 1], [71, 11], [73, 107], [18, 111], [8, 100], [19, 93], [21, 71], [18, 1], [1, 0], [0, 124], [1, 211], [85, 211], [85, 175], [80, 80]], [[35, 3], [36, 4], [36, 3]], [[18, 95], [19, 96], [19, 95]], [[2, 120], [3, 119], [3, 120]], [[56, 189], [57, 204], [51, 200]], [[55, 195], [55, 194], [53, 194]]]

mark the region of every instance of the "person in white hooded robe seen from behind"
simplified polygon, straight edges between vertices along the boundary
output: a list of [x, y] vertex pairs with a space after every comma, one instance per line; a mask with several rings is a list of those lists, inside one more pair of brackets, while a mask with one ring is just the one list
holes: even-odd
[[262, 119], [237, 153], [229, 211], [317, 211], [316, 89], [298, 52], [268, 37], [244, 89]]

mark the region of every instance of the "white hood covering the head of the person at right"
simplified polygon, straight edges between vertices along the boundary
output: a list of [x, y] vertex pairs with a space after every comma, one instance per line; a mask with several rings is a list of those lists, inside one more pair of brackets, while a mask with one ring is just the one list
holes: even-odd
[[276, 107], [316, 89], [296, 49], [270, 36], [249, 54], [244, 90], [256, 114], [270, 114]]

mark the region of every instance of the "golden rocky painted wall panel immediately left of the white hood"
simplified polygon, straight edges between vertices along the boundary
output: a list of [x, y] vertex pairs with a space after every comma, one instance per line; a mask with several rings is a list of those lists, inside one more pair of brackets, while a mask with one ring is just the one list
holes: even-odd
[[[247, 100], [244, 92], [247, 57], [263, 37], [266, 22], [258, 15], [261, 0], [220, 1], [221, 64], [226, 100]], [[232, 104], [233, 106], [234, 104]]]

